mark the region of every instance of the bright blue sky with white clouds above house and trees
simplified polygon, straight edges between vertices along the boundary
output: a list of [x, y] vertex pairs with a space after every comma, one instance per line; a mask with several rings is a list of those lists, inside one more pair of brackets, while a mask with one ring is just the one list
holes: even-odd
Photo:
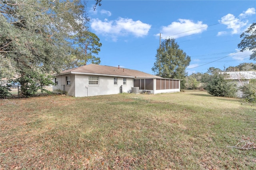
[[165, 38], [175, 38], [191, 57], [187, 72], [205, 73], [249, 60], [239, 52], [240, 34], [256, 22], [255, 0], [102, 0], [93, 10], [87, 3], [88, 24], [100, 38], [100, 65], [136, 69], [150, 74], [156, 50]]

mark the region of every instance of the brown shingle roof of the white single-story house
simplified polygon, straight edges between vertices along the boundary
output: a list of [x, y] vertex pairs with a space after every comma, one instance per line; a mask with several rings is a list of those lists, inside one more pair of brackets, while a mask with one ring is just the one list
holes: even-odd
[[60, 72], [60, 75], [69, 73], [93, 74], [93, 75], [108, 75], [108, 76], [122, 76], [134, 78], [162, 78], [156, 75], [151, 75], [138, 70], [124, 69], [106, 65], [89, 64], [81, 67], [68, 69]]

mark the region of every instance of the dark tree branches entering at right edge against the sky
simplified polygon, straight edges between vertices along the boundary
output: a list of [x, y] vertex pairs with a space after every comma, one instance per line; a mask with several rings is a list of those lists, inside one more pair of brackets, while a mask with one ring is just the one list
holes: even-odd
[[256, 23], [252, 23], [252, 25], [240, 35], [240, 38], [243, 38], [238, 44], [238, 48], [241, 49], [240, 51], [252, 51], [250, 59], [256, 61]]

